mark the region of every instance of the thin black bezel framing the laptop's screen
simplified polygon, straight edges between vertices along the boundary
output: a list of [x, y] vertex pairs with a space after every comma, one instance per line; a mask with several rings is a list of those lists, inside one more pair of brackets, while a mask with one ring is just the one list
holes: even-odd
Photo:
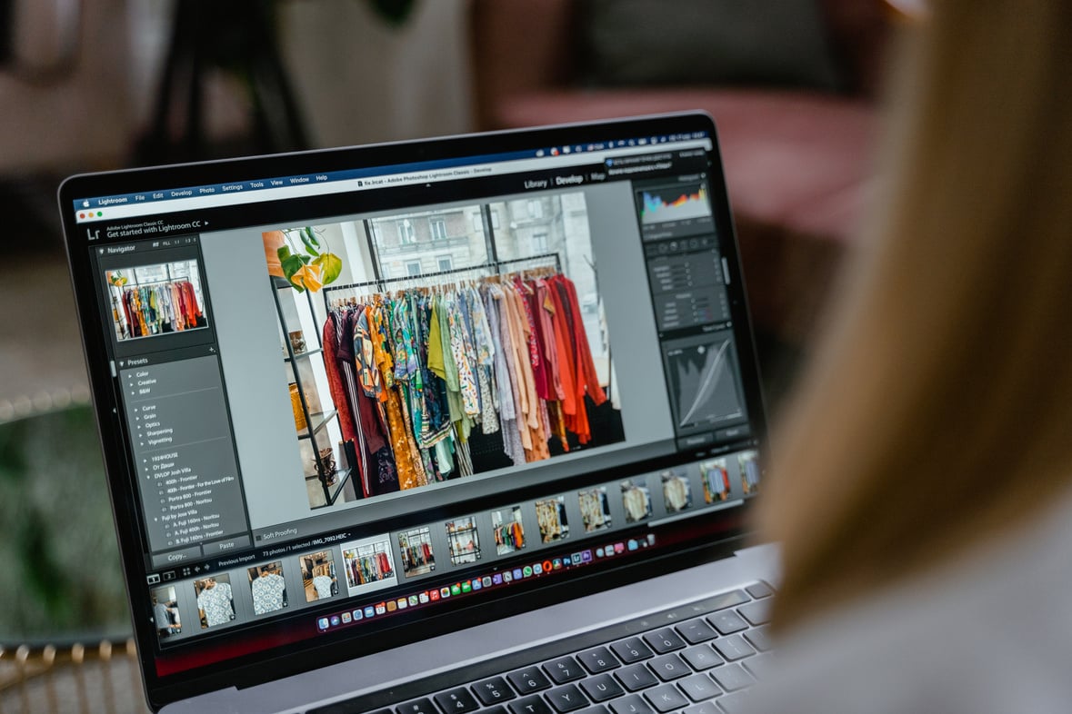
[[[701, 112], [634, 118], [599, 123], [570, 124], [532, 130], [518, 130], [486, 134], [426, 140], [392, 142], [346, 149], [321, 150], [294, 154], [270, 155], [250, 158], [228, 159], [202, 164], [187, 164], [152, 167], [98, 174], [83, 174], [68, 179], [58, 192], [59, 204], [65, 233], [65, 246], [71, 265], [75, 302], [78, 309], [79, 328], [89, 367], [89, 379], [98, 419], [104, 461], [108, 475], [113, 511], [128, 581], [128, 597], [132, 613], [145, 610], [148, 590], [144, 587], [146, 569], [142, 550], [142, 533], [138, 529], [138, 508], [135, 495], [125, 486], [129, 484], [131, 465], [123, 443], [125, 428], [120, 419], [118, 395], [111, 383], [108, 358], [105, 349], [104, 331], [100, 329], [96, 304], [96, 286], [89, 259], [89, 242], [85, 237], [86, 224], [76, 224], [72, 209], [75, 199], [86, 196], [105, 196], [136, 191], [166, 189], [204, 183], [223, 183], [248, 180], [251, 177], [298, 174], [313, 171], [345, 170], [354, 167], [388, 166], [413, 162], [456, 158], [468, 155], [528, 150], [536, 147], [587, 143], [610, 139], [650, 136], [653, 134], [675, 134], [706, 132], [712, 139], [709, 159], [711, 202], [715, 225], [721, 236], [723, 255], [738, 285], [734, 298], [741, 301], [734, 332], [739, 337], [740, 368], [742, 371], [750, 423], [760, 450], [766, 443], [765, 410], [759, 392], [759, 370], [755, 343], [748, 317], [743, 271], [740, 267], [740, 252], [735, 229], [729, 211], [725, 177], [721, 171], [717, 135], [710, 116]], [[260, 210], [258, 207], [257, 210]], [[257, 223], [263, 223], [259, 218]], [[743, 319], [742, 319], [743, 318]], [[740, 547], [746, 533], [744, 515], [747, 504], [742, 507], [716, 512], [702, 518], [705, 528], [697, 529], [691, 541], [683, 543], [676, 556], [656, 556], [667, 567], [684, 567], [725, 557]], [[680, 529], [679, 529], [680, 530]], [[509, 595], [496, 599], [496, 607], [480, 607], [482, 601], [474, 605], [450, 608], [416, 623], [406, 623], [391, 629], [390, 638], [377, 634], [378, 641], [390, 640], [391, 645], [415, 641], [440, 631], [463, 628], [523, 612], [536, 607], [565, 602], [585, 594], [592, 594], [614, 584], [652, 577], [657, 574], [652, 568], [653, 558], [634, 558], [601, 568], [598, 577], [577, 577], [568, 582], [547, 586], [536, 592]], [[494, 618], [489, 618], [490, 612]], [[243, 655], [199, 670], [190, 670], [166, 678], [160, 678], [153, 666], [155, 633], [151, 623], [136, 614], [134, 633], [138, 643], [143, 678], [149, 703], [160, 708], [168, 702], [195, 694], [211, 692], [228, 686], [252, 686], [258, 682], [287, 677], [314, 667], [325, 666], [353, 656], [355, 647], [366, 645], [362, 653], [375, 651], [368, 642], [362, 643], [360, 635], [348, 638], [351, 647], [340, 648], [336, 638], [319, 641], [311, 638], [300, 647], [283, 647], [264, 650], [256, 654]], [[366, 637], [364, 639], [369, 639]], [[385, 645], [379, 645], [381, 648]], [[282, 651], [280, 651], [282, 650]], [[301, 657], [293, 655], [301, 652]], [[207, 671], [206, 671], [207, 670]]]

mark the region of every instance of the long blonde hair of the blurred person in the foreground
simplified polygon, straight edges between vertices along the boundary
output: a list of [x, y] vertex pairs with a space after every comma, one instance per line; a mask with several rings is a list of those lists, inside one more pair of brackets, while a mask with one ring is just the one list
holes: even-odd
[[774, 622], [949, 562], [1072, 486], [1072, 3], [935, 0], [776, 430]]

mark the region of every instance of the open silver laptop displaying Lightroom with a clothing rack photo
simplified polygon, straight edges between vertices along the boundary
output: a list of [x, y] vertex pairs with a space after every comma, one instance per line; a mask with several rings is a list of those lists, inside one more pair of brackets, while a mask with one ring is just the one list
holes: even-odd
[[59, 189], [149, 707], [734, 711], [765, 419], [702, 113]]

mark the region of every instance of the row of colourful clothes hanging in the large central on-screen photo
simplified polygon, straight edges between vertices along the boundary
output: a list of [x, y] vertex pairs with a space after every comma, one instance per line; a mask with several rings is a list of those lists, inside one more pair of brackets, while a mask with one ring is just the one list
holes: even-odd
[[473, 475], [480, 436], [515, 466], [551, 458], [553, 439], [592, 441], [607, 393], [560, 267], [548, 253], [324, 287], [324, 364], [360, 497]]

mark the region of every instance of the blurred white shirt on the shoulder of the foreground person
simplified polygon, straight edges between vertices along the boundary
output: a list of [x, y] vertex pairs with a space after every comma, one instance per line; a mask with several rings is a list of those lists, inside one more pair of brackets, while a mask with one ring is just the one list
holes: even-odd
[[751, 711], [1072, 712], [1072, 498], [1002, 542], [804, 628]]

